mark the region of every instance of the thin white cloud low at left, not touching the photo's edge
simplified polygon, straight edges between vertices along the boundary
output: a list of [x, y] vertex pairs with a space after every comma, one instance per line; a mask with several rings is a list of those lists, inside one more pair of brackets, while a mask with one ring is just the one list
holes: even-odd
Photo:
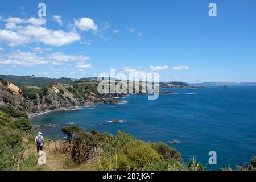
[[51, 55], [48, 55], [47, 59], [53, 60], [53, 65], [61, 65], [69, 61], [80, 61], [80, 62], [82, 61], [84, 63], [84, 61], [88, 61], [90, 57], [86, 57], [82, 55], [80, 56], [64, 55], [61, 52], [56, 52], [56, 53], [52, 53]]

